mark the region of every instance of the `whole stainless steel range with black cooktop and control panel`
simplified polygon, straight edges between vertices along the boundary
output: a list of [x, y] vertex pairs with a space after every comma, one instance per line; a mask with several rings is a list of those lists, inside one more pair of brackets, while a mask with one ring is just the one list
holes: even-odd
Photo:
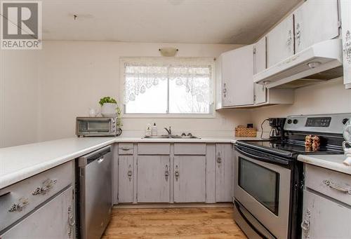
[[282, 138], [237, 142], [234, 219], [249, 238], [300, 237], [303, 163], [297, 156], [343, 153], [348, 118], [351, 114], [289, 116]]

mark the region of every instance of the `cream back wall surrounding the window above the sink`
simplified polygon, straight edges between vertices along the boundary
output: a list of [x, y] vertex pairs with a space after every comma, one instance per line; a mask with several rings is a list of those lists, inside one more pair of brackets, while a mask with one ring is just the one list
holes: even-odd
[[[217, 57], [237, 45], [179, 43], [117, 43], [93, 41], [46, 41], [41, 50], [40, 140], [73, 137], [76, 116], [98, 108], [100, 97], [121, 100], [119, 57], [159, 56], [161, 46], [179, 48], [180, 57]], [[234, 126], [248, 123], [250, 111], [225, 110], [216, 118], [126, 118], [124, 134], [140, 136], [147, 123], [157, 123], [160, 133], [171, 125], [174, 132], [232, 135]], [[204, 132], [205, 130], [205, 132]]]

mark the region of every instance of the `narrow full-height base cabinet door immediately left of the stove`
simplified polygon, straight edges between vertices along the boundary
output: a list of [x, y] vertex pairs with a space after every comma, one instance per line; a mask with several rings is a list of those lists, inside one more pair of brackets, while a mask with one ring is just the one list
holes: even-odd
[[216, 202], [231, 202], [234, 196], [232, 144], [216, 144]]

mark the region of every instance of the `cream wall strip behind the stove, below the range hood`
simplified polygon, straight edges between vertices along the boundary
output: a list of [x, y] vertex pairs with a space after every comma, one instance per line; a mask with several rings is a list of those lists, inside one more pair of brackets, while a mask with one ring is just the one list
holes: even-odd
[[[294, 104], [252, 109], [251, 118], [256, 127], [260, 128], [263, 120], [270, 117], [348, 112], [351, 112], [351, 90], [345, 90], [343, 78], [336, 78], [296, 89]], [[264, 131], [269, 131], [268, 123], [264, 124]]]

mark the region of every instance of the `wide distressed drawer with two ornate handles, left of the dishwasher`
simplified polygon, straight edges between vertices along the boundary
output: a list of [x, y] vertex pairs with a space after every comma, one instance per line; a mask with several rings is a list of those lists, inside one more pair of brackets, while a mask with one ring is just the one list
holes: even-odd
[[0, 231], [73, 183], [70, 161], [0, 190]]

